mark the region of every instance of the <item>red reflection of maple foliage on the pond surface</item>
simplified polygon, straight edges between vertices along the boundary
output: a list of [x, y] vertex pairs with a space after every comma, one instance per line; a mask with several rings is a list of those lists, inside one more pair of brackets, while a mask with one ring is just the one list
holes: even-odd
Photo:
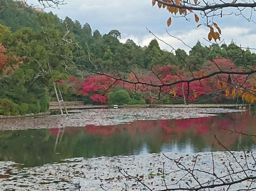
[[[228, 135], [225, 129], [247, 132], [250, 126], [254, 126], [256, 119], [249, 113], [225, 113], [213, 117], [188, 118], [177, 120], [140, 120], [120, 125], [86, 125], [85, 127], [65, 128], [65, 133], [75, 134], [85, 130], [92, 135], [109, 136], [115, 132], [128, 131], [131, 138], [136, 135], [150, 135], [154, 139], [161, 139], [164, 142], [182, 140], [184, 137], [199, 136], [205, 142], [216, 144], [214, 135], [225, 146], [232, 146], [238, 139], [239, 134]], [[223, 129], [224, 128], [224, 129]], [[59, 129], [49, 129], [50, 135], [57, 135]], [[60, 133], [61, 135], [61, 133]], [[228, 137], [228, 138], [227, 138]]]

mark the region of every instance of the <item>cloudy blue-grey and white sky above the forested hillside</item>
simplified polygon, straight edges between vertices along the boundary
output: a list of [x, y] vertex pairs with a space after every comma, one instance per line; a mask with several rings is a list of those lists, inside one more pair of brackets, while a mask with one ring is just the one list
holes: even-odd
[[[60, 9], [46, 9], [57, 14], [61, 19], [69, 16], [73, 20], [79, 20], [83, 25], [89, 23], [92, 30], [99, 29], [101, 33], [108, 33], [112, 29], [121, 32], [121, 42], [133, 39], [136, 44], [144, 46], [154, 38], [146, 27], [157, 37], [172, 45], [174, 48], [189, 50], [182, 42], [170, 37], [166, 30], [173, 36], [179, 37], [187, 45], [193, 46], [197, 40], [206, 44], [209, 28], [200, 26], [196, 28], [194, 18], [190, 22], [183, 18], [172, 18], [172, 24], [167, 27], [166, 21], [170, 14], [166, 9], [157, 6], [152, 7], [151, 0], [115, 0], [115, 1], [89, 1], [89, 0], [65, 0], [66, 5]], [[235, 12], [235, 9], [228, 10]], [[200, 13], [198, 12], [198, 15]], [[252, 20], [256, 21], [256, 14]], [[200, 18], [199, 23], [205, 20]], [[244, 47], [256, 47], [256, 24], [248, 22], [242, 16], [223, 16], [214, 20], [222, 29], [221, 39], [229, 43], [233, 39]], [[170, 46], [159, 42], [162, 49], [171, 50]]]

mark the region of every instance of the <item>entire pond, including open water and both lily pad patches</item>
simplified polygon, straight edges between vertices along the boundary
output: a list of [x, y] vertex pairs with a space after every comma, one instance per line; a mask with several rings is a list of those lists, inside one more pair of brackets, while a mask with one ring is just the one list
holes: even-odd
[[[224, 174], [229, 182], [225, 163], [231, 162], [237, 171], [245, 165], [255, 168], [256, 140], [227, 134], [227, 130], [256, 134], [255, 124], [251, 111], [229, 108], [85, 109], [73, 110], [65, 117], [0, 118], [0, 190], [74, 191], [78, 184], [81, 190], [93, 191], [103, 190], [101, 186], [122, 190], [125, 184], [127, 190], [145, 189], [121, 175], [119, 167], [146, 176], [145, 183], [152, 189], [165, 189], [163, 177], [157, 175], [163, 162], [170, 172], [165, 177], [167, 182], [184, 177], [186, 181], [176, 183], [177, 188], [186, 187], [188, 181], [190, 186], [198, 184], [162, 152], [181, 159], [188, 168], [206, 170], [196, 173], [206, 184], [212, 180], [209, 173], [214, 161], [214, 172]], [[223, 152], [214, 135], [233, 151], [232, 155]], [[255, 175], [254, 170], [249, 173]], [[241, 182], [229, 190], [247, 189], [249, 183]]]

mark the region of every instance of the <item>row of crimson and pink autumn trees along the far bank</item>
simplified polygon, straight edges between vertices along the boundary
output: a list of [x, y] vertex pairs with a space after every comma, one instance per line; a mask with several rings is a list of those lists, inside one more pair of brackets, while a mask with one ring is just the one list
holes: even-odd
[[[236, 66], [228, 58], [216, 57], [212, 61], [207, 61], [200, 71], [194, 71], [193, 74], [194, 77], [202, 77], [218, 70], [243, 71], [243, 68]], [[145, 83], [161, 84], [191, 78], [191, 73], [185, 72], [180, 66], [175, 65], [153, 66], [152, 71], [158, 77], [154, 74], [130, 73], [127, 80], [131, 82], [139, 80]], [[122, 86], [131, 92], [142, 92], [143, 99], [149, 100], [148, 102], [150, 103], [153, 103], [152, 98], [157, 98], [159, 92], [161, 95], [168, 95], [172, 98], [183, 100], [185, 103], [196, 102], [202, 95], [211, 97], [214, 101], [226, 99], [227, 97], [229, 99], [241, 97], [242, 100], [253, 103], [256, 99], [249, 91], [245, 91], [250, 86], [252, 87], [250, 88], [251, 91], [256, 91], [256, 81], [254, 78], [248, 80], [247, 75], [218, 74], [211, 78], [192, 81], [189, 84], [178, 83], [174, 86], [163, 86], [161, 89], [144, 85], [143, 83], [135, 85], [115, 80], [105, 75], [91, 75], [85, 79], [70, 77], [66, 83], [73, 88], [75, 94], [86, 96], [90, 93], [90, 99], [100, 103], [107, 101], [108, 93], [112, 92], [116, 86]]]

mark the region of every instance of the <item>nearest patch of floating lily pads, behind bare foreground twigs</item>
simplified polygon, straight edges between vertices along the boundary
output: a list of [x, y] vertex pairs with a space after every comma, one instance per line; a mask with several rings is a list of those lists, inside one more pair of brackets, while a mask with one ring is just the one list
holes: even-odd
[[[240, 157], [244, 155], [242, 152], [233, 152], [239, 164], [246, 167], [246, 160], [249, 168], [255, 169], [255, 162], [251, 156]], [[200, 152], [197, 154], [186, 153], [164, 153], [169, 158], [181, 159], [181, 162], [187, 168], [208, 171], [213, 173], [212, 155], [211, 152]], [[196, 157], [197, 156], [197, 157]], [[196, 162], [192, 162], [196, 157]], [[214, 173], [217, 176], [228, 174], [226, 163], [231, 163], [234, 171], [239, 171], [241, 167], [235, 162], [229, 152], [213, 152], [214, 158]], [[164, 181], [162, 173], [158, 169], [163, 168], [164, 172], [169, 173], [164, 175], [167, 184], [171, 184], [168, 188], [195, 186], [198, 183], [191, 175], [187, 175], [180, 181], [179, 184], [174, 184], [187, 171], [179, 170], [174, 162], [165, 158], [163, 154], [146, 154], [140, 156], [115, 156], [115, 157], [99, 157], [99, 158], [73, 158], [65, 159], [65, 163], [45, 164], [33, 168], [17, 168], [14, 162], [0, 162], [0, 174], [8, 175], [0, 176], [1, 190], [77, 190], [76, 186], [80, 184], [81, 190], [102, 190], [101, 186], [106, 190], [121, 190], [127, 184], [127, 190], [142, 190], [145, 189], [140, 183], [126, 179], [120, 172], [119, 168], [127, 171], [130, 175], [141, 177], [144, 176], [144, 183], [150, 188], [164, 189]], [[193, 172], [193, 174], [202, 180], [202, 182], [210, 182], [212, 175], [202, 172]], [[239, 173], [239, 178], [243, 178], [244, 174]], [[238, 180], [238, 176], [233, 176], [234, 180]], [[255, 176], [255, 171], [250, 172], [250, 176]], [[229, 176], [223, 179], [225, 182], [231, 181]], [[222, 183], [216, 180], [215, 183]], [[256, 184], [253, 182], [253, 184]], [[248, 188], [249, 181], [245, 181], [231, 186], [230, 190], [238, 188]], [[255, 185], [251, 185], [253, 187]]]

